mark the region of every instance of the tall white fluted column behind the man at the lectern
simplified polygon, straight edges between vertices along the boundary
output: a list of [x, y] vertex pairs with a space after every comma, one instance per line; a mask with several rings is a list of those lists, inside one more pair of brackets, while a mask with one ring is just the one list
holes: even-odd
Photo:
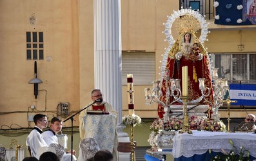
[[121, 1], [94, 0], [94, 81], [122, 118]]

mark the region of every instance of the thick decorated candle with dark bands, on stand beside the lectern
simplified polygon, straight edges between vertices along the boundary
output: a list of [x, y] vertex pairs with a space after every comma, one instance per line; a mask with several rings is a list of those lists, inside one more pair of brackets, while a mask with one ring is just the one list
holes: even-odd
[[127, 75], [128, 114], [134, 114], [133, 75]]

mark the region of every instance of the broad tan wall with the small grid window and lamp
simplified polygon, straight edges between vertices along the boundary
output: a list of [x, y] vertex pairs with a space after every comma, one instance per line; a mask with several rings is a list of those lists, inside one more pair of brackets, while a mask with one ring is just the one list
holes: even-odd
[[[1, 125], [28, 127], [26, 112], [32, 112], [31, 105], [42, 113], [56, 111], [59, 102], [69, 102], [70, 111], [79, 109], [77, 1], [1, 0], [0, 10], [0, 110], [20, 112], [1, 115]], [[29, 21], [32, 16], [34, 25]], [[26, 60], [26, 32], [44, 33], [44, 60], [37, 61], [37, 77], [43, 81], [39, 90], [47, 93], [39, 91], [37, 99], [34, 85], [28, 84], [34, 77], [34, 61]]]

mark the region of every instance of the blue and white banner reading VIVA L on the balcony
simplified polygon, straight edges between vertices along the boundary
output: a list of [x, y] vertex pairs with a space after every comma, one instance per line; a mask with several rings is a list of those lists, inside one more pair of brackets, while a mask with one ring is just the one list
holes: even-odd
[[230, 84], [232, 105], [256, 106], [256, 84]]

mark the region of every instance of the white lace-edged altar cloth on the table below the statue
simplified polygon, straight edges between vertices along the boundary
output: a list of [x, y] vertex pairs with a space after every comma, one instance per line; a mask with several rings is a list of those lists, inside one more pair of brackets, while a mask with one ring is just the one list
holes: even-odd
[[192, 131], [193, 134], [177, 133], [173, 138], [173, 156], [191, 157], [193, 155], [202, 155], [209, 149], [220, 152], [225, 149], [227, 152], [232, 149], [229, 139], [233, 141], [237, 151], [240, 147], [250, 151], [250, 155], [256, 157], [256, 134], [255, 133], [223, 133], [208, 131]]

